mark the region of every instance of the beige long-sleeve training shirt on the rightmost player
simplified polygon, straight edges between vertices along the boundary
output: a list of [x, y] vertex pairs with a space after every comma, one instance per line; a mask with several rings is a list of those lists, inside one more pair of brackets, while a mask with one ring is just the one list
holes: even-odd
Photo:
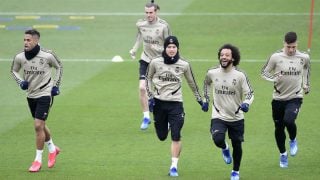
[[302, 98], [303, 87], [310, 87], [309, 55], [298, 50], [293, 56], [277, 51], [268, 59], [261, 75], [274, 83], [273, 99]]

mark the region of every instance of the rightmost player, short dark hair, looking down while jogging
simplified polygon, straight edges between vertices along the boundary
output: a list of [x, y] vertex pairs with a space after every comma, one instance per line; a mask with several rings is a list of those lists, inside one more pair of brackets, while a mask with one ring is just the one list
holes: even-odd
[[273, 82], [272, 117], [282, 168], [288, 167], [285, 129], [290, 139], [290, 155], [295, 156], [298, 151], [295, 120], [303, 94], [310, 91], [310, 57], [300, 52], [297, 47], [297, 34], [286, 33], [283, 48], [271, 55], [261, 71], [264, 79]]

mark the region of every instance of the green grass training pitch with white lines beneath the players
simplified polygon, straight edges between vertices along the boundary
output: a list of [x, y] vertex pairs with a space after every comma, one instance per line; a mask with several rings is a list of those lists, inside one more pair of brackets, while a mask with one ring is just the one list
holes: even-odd
[[[319, 179], [319, 13], [313, 22], [311, 93], [304, 98], [297, 120], [299, 152], [289, 157], [287, 169], [279, 168], [273, 135], [272, 84], [260, 78], [267, 57], [282, 48], [285, 32], [296, 31], [299, 49], [307, 49], [310, 2], [156, 2], [161, 7], [159, 15], [178, 36], [180, 53], [190, 60], [200, 87], [206, 70], [217, 64], [216, 52], [223, 43], [240, 48], [240, 68], [247, 72], [255, 90], [254, 103], [245, 118], [241, 179]], [[186, 84], [179, 178], [167, 176], [170, 139], [160, 142], [153, 125], [145, 132], [139, 129], [138, 63], [129, 59], [128, 51], [134, 43], [135, 22], [144, 16], [145, 3], [1, 2], [0, 179], [229, 179], [232, 165], [224, 164], [210, 139], [210, 113], [201, 111]], [[314, 12], [319, 9], [316, 2]], [[25, 93], [10, 75], [10, 66], [12, 57], [23, 47], [23, 28], [39, 25], [45, 27], [39, 28], [41, 45], [53, 49], [64, 65], [61, 95], [55, 98], [47, 121], [62, 152], [53, 169], [43, 166], [40, 173], [31, 174], [27, 169], [35, 155], [33, 120]], [[68, 30], [48, 28], [57, 26]], [[124, 62], [110, 62], [115, 55], [122, 56]], [[44, 165], [46, 161], [44, 155]]]

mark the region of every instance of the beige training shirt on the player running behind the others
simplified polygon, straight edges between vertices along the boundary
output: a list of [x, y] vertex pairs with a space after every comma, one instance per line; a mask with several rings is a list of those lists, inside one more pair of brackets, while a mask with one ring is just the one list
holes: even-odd
[[133, 50], [136, 52], [142, 42], [143, 52], [141, 59], [150, 63], [151, 59], [161, 55], [164, 40], [171, 35], [169, 24], [157, 17], [157, 20], [153, 23], [150, 23], [146, 19], [140, 19], [136, 23], [136, 26], [138, 33]]

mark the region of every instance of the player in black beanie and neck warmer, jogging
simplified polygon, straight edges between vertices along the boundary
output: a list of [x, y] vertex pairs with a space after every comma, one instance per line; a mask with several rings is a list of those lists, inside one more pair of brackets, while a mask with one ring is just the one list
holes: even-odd
[[[153, 111], [154, 125], [160, 141], [171, 131], [171, 167], [169, 176], [178, 176], [181, 152], [181, 129], [184, 124], [182, 79], [186, 78], [198, 103], [202, 98], [190, 64], [179, 55], [179, 41], [175, 36], [165, 39], [162, 56], [153, 59], [147, 70], [149, 109]], [[168, 127], [169, 126], [169, 127]]]

